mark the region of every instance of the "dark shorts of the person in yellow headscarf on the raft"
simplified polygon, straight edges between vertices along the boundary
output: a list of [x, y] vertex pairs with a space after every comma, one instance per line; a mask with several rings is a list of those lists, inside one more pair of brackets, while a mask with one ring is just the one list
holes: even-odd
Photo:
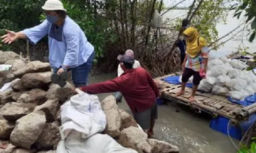
[[182, 74], [181, 81], [187, 82], [192, 75], [193, 75], [193, 84], [195, 86], [198, 86], [203, 78], [200, 76], [199, 72], [194, 71], [193, 69], [190, 69], [190, 68], [185, 67], [184, 72]]

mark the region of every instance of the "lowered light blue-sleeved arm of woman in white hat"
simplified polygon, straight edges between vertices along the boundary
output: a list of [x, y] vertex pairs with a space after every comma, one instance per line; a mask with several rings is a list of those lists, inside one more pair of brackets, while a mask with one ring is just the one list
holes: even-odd
[[67, 44], [67, 50], [63, 66], [69, 68], [78, 64], [80, 35], [78, 30], [64, 32]]

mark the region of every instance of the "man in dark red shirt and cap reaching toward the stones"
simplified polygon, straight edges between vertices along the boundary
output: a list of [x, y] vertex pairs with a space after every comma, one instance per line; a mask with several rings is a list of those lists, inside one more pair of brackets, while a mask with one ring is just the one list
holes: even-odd
[[151, 75], [142, 67], [134, 69], [133, 64], [134, 58], [124, 55], [120, 59], [124, 71], [120, 77], [79, 89], [89, 94], [120, 91], [137, 123], [148, 136], [152, 136], [155, 120], [158, 117], [156, 98], [159, 96], [159, 90]]

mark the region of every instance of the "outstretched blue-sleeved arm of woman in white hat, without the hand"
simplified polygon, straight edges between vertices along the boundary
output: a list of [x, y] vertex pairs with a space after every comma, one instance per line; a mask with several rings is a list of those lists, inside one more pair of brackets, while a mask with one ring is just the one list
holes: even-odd
[[48, 34], [50, 23], [44, 20], [41, 24], [33, 28], [25, 29], [17, 32], [18, 39], [28, 39], [32, 44], [36, 44], [39, 40]]

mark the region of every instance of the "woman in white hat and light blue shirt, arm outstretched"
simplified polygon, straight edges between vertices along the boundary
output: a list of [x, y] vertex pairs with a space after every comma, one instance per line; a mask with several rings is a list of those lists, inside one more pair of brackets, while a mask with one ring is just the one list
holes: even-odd
[[[93, 45], [88, 42], [79, 25], [66, 15], [67, 10], [59, 0], [46, 1], [42, 9], [47, 16], [45, 21], [20, 32], [6, 30], [7, 34], [1, 37], [2, 42], [10, 44], [16, 39], [28, 39], [36, 44], [48, 34], [49, 63], [54, 73], [67, 74], [67, 70], [72, 70], [75, 86], [86, 85], [95, 56]], [[67, 79], [67, 76], [63, 78]]]

